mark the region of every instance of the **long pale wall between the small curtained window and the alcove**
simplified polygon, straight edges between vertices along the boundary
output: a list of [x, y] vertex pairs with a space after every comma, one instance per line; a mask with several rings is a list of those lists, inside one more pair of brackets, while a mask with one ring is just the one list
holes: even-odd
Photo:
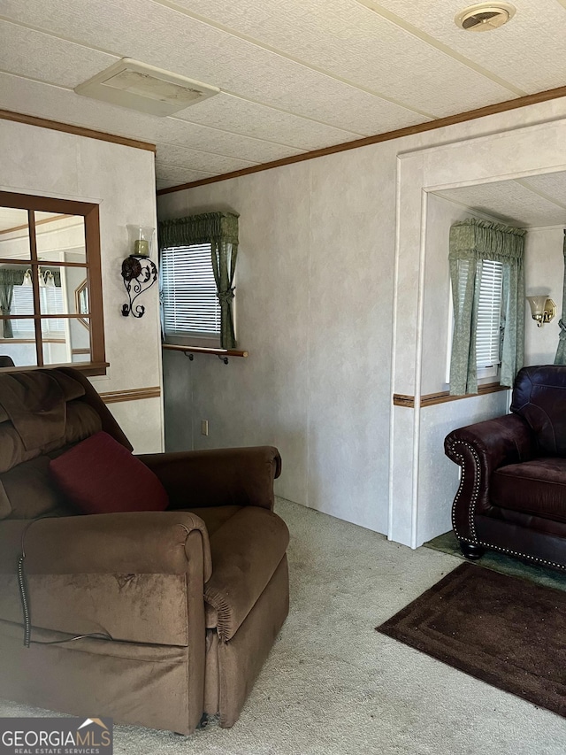
[[[352, 171], [360, 178], [344, 189]], [[165, 352], [164, 365], [168, 448], [276, 444], [279, 495], [383, 531], [394, 196], [377, 199], [376, 175], [386, 187], [394, 162], [386, 173], [379, 155], [356, 150], [203, 187], [190, 206], [185, 192], [169, 195], [170, 216], [241, 214], [237, 324], [249, 358]]]

